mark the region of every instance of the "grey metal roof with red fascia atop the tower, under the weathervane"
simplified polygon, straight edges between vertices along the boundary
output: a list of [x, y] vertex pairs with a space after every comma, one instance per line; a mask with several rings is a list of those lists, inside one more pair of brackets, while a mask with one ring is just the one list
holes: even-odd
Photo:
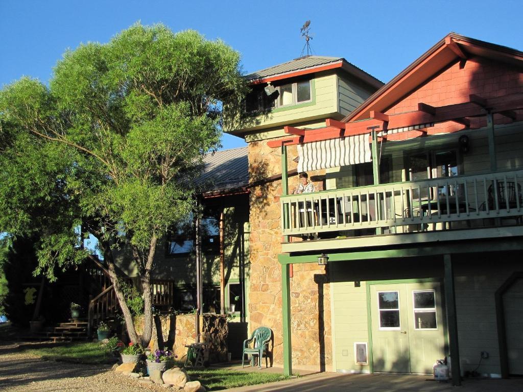
[[383, 82], [356, 67], [355, 65], [350, 64], [343, 57], [316, 55], [303, 56], [299, 57], [298, 59], [274, 65], [248, 74], [245, 76], [245, 78], [253, 84], [267, 83], [294, 76], [332, 70], [334, 68], [342, 68], [345, 72], [362, 79], [364, 82], [376, 88], [383, 86]]

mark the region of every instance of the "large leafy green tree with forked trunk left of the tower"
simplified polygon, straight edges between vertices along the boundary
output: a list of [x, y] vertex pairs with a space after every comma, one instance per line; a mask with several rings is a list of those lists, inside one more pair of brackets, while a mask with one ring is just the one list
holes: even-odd
[[99, 241], [138, 341], [115, 267], [115, 251], [129, 247], [144, 295], [144, 345], [157, 242], [195, 207], [191, 179], [219, 147], [223, 105], [241, 107], [246, 93], [239, 64], [222, 41], [138, 24], [66, 52], [49, 87], [22, 78], [0, 91], [0, 229], [38, 233], [36, 273], [53, 279], [55, 268], [84, 259], [81, 224]]

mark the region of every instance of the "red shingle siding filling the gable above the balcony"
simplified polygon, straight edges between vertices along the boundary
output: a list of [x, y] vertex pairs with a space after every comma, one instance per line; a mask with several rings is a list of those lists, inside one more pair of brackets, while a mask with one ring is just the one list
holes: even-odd
[[[386, 114], [397, 114], [417, 110], [419, 102], [431, 106], [445, 106], [469, 101], [469, 95], [483, 98], [501, 97], [523, 93], [523, 73], [506, 64], [492, 61], [468, 60], [463, 68], [456, 63], [426, 84], [397, 102]], [[496, 114], [495, 123], [509, 123], [506, 117]], [[471, 119], [471, 128], [486, 125], [486, 119]], [[431, 130], [456, 131], [465, 128], [454, 122], [436, 124]]]

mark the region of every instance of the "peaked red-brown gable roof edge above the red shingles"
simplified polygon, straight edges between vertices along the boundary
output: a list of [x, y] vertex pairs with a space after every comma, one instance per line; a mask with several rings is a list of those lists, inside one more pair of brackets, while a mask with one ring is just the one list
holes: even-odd
[[473, 57], [484, 57], [523, 68], [523, 52], [451, 32], [361, 103], [342, 121], [368, 119], [371, 110], [384, 112], [445, 67]]

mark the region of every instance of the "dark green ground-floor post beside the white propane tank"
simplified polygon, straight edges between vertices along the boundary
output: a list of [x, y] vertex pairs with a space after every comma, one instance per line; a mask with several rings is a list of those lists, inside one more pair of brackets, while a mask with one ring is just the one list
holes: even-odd
[[450, 255], [443, 255], [445, 266], [445, 307], [447, 308], [447, 323], [449, 327], [450, 359], [452, 385], [461, 385], [461, 369], [458, 344], [458, 324], [456, 318], [456, 295], [454, 293], [454, 271]]

